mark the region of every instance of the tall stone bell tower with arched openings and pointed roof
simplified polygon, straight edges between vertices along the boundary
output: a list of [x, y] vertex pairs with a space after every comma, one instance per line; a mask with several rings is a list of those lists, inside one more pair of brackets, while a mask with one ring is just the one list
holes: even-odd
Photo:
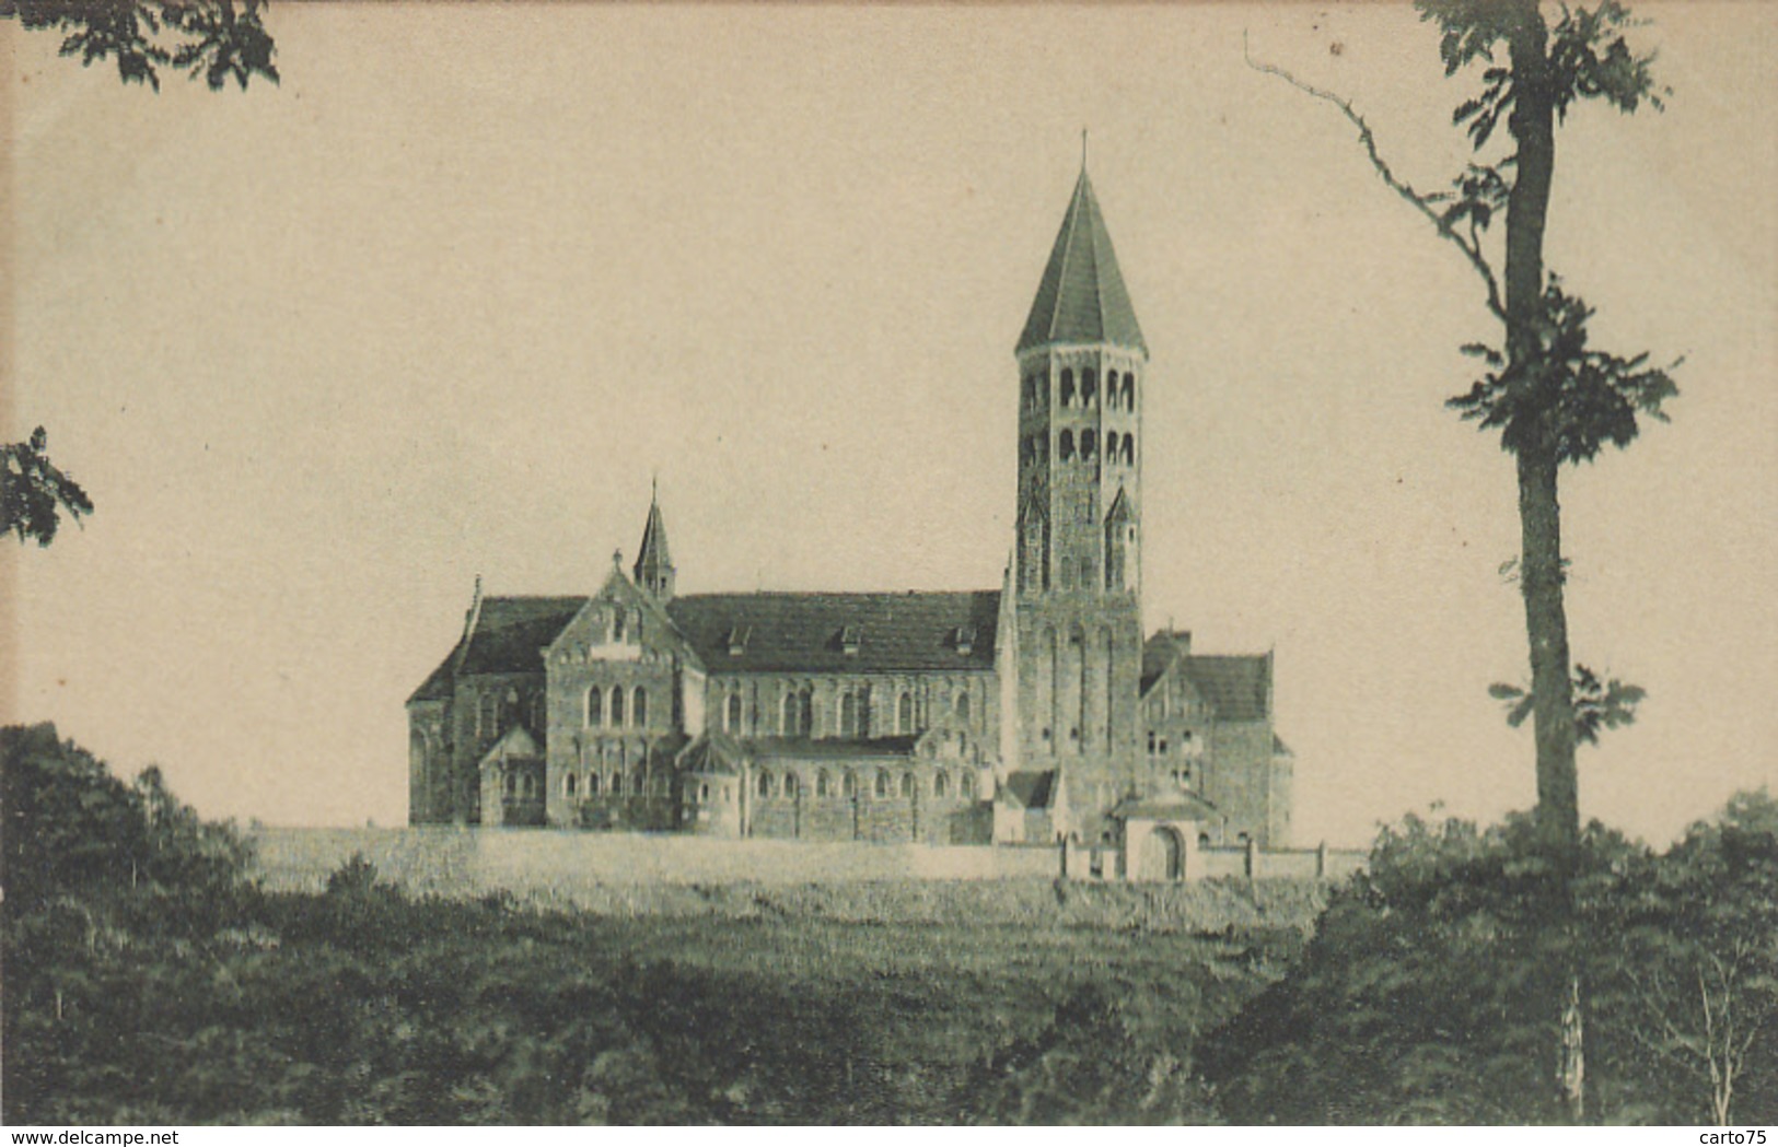
[[1085, 158], [1015, 357], [1013, 767], [1056, 771], [1076, 831], [1097, 835], [1138, 785], [1149, 346]]

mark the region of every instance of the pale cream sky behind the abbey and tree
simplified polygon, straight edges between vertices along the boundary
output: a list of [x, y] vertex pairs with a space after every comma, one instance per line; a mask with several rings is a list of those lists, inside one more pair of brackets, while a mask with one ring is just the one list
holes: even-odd
[[[1652, 842], [1778, 783], [1778, 11], [1639, 5], [1666, 114], [1588, 107], [1549, 257], [1686, 357], [1565, 476], [1579, 661], [1648, 689], [1581, 806]], [[281, 87], [158, 96], [5, 23], [0, 439], [98, 502], [0, 549], [0, 716], [206, 815], [405, 819], [407, 694], [491, 593], [587, 593], [649, 478], [681, 591], [996, 588], [1013, 343], [1090, 169], [1152, 362], [1145, 623], [1277, 650], [1298, 842], [1533, 801], [1497, 337], [1398, 170], [1465, 160], [1405, 5], [295, 5]]]

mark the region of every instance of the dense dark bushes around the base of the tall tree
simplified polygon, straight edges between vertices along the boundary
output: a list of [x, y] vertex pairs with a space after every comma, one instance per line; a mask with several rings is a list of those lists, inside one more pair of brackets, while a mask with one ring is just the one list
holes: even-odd
[[[1561, 984], [1545, 969], [1572, 966], [1590, 996], [1597, 1119], [1726, 1120], [1710, 1106], [1709, 1028], [1719, 1064], [1730, 1044], [1741, 1055], [1737, 1117], [1771, 1120], [1778, 1053], [1753, 1037], [1774, 1030], [1774, 906], [1778, 810], [1764, 794], [1664, 856], [1593, 824], [1572, 875], [1529, 817], [1410, 817], [1378, 836], [1303, 961], [1204, 1040], [1204, 1071], [1234, 1122], [1559, 1120], [1543, 1065]], [[1730, 961], [1732, 977], [1716, 971]], [[1714, 1010], [1700, 969], [1716, 977]]]

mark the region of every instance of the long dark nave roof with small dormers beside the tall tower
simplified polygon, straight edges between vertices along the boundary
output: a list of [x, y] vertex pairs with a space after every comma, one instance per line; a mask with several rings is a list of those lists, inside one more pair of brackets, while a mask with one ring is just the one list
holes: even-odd
[[[992, 669], [999, 591], [701, 593], [670, 600], [667, 616], [711, 673]], [[841, 643], [848, 627], [855, 653]], [[973, 630], [967, 653], [960, 629]], [[731, 653], [736, 630], [747, 641]]]

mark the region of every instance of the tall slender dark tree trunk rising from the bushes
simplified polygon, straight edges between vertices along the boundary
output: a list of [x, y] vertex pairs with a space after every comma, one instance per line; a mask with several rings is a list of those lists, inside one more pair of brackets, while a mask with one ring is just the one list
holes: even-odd
[[[1559, 874], [1558, 927], [1574, 920], [1572, 877], [1581, 838], [1575, 781], [1574, 692], [1568, 669], [1568, 614], [1563, 602], [1561, 502], [1556, 485], [1561, 458], [1549, 426], [1554, 394], [1543, 378], [1543, 227], [1556, 174], [1556, 99], [1549, 62], [1549, 28], [1536, 0], [1511, 0], [1508, 37], [1513, 71], [1513, 135], [1517, 169], [1506, 211], [1506, 353], [1520, 399], [1536, 417], [1536, 431], [1520, 440], [1518, 462], [1518, 588], [1526, 598], [1531, 643], [1531, 716], [1536, 735], [1538, 827]], [[1584, 1009], [1577, 957], [1552, 968], [1554, 1000], [1561, 1000], [1556, 1039], [1556, 1099], [1568, 1122], [1584, 1106]]]

